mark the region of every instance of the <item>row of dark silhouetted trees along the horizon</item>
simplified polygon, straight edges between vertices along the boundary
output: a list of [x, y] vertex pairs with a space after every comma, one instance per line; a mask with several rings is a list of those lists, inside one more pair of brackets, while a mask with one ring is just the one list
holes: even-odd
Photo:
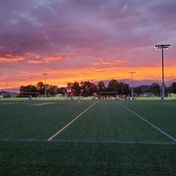
[[[41, 95], [44, 94], [46, 87], [46, 93], [50, 96], [55, 96], [56, 94], [63, 94], [65, 87], [58, 87], [57, 85], [44, 84], [43, 82], [38, 82], [36, 85], [27, 85], [20, 87], [20, 93], [24, 92], [37, 92]], [[91, 81], [81, 81], [81, 82], [69, 82], [66, 87], [72, 88], [75, 95], [91, 96], [93, 93], [99, 94], [100, 92], [118, 92], [120, 95], [130, 95], [131, 87], [124, 82], [118, 82], [115, 79], [109, 81], [107, 86], [103, 81], [99, 81], [97, 84]], [[165, 93], [176, 93], [176, 82], [173, 82], [171, 86], [166, 87]], [[141, 95], [143, 93], [150, 93], [154, 96], [160, 96], [161, 86], [158, 83], [153, 83], [152, 85], [141, 85], [133, 88], [135, 95]]]

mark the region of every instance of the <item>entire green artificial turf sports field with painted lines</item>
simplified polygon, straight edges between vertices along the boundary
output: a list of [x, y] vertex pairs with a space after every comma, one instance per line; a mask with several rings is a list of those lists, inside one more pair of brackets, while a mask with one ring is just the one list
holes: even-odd
[[0, 101], [1, 176], [176, 175], [176, 101]]

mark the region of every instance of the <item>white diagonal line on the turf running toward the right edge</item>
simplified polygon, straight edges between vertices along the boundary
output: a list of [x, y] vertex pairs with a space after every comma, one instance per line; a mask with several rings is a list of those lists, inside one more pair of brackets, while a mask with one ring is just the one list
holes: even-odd
[[166, 132], [164, 132], [163, 130], [161, 130], [160, 128], [158, 128], [157, 126], [153, 125], [151, 122], [149, 122], [148, 120], [144, 119], [142, 116], [140, 116], [139, 114], [135, 113], [134, 111], [132, 111], [131, 109], [127, 108], [126, 106], [124, 106], [121, 103], [118, 103], [119, 105], [121, 105], [122, 107], [124, 107], [125, 109], [127, 109], [129, 112], [131, 112], [132, 114], [136, 115], [137, 117], [139, 117], [141, 120], [143, 120], [144, 122], [146, 122], [147, 124], [149, 124], [150, 126], [152, 126], [153, 128], [155, 128], [156, 130], [158, 130], [159, 132], [161, 132], [162, 134], [164, 134], [165, 136], [167, 136], [168, 138], [172, 139], [174, 142], [176, 142], [176, 139], [172, 136], [170, 136], [169, 134], [167, 134]]

